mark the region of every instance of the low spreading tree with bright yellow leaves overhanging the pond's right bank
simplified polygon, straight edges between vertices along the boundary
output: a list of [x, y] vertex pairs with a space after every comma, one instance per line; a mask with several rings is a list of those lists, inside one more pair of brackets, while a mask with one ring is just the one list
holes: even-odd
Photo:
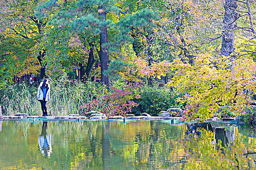
[[[185, 94], [179, 100], [187, 103], [184, 119], [202, 121], [216, 112], [245, 113], [249, 104], [245, 89], [256, 92], [256, 64], [247, 57], [229, 58], [200, 54], [193, 65], [178, 59], [172, 63], [175, 75], [169, 85]], [[221, 111], [220, 106], [224, 107]]]

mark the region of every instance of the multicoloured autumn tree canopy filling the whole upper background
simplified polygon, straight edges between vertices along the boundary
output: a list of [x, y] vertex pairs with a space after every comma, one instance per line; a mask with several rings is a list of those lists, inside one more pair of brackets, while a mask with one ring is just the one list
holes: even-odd
[[255, 11], [250, 0], [0, 0], [0, 81], [74, 66], [107, 87], [169, 76], [186, 118], [240, 114], [255, 92]]

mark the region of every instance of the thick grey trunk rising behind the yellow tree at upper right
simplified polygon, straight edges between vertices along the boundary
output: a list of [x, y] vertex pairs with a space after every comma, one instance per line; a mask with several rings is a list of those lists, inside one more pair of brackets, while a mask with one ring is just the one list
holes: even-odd
[[222, 55], [229, 56], [235, 51], [234, 36], [236, 27], [236, 0], [225, 1], [225, 14], [223, 19], [222, 44], [220, 52]]

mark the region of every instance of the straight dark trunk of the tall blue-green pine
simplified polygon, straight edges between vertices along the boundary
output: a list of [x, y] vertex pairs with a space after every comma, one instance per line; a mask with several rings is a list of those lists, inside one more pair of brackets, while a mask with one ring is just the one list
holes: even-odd
[[[106, 22], [106, 11], [102, 6], [98, 6], [98, 17], [99, 20], [104, 23]], [[109, 75], [104, 75], [104, 71], [108, 69], [108, 48], [107, 48], [107, 26], [103, 25], [100, 28], [99, 33], [99, 46], [100, 46], [100, 68], [101, 68], [101, 83], [109, 86]]]

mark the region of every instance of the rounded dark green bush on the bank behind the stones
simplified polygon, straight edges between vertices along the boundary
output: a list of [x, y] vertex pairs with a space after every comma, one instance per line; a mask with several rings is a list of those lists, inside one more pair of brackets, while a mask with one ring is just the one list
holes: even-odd
[[140, 115], [140, 113], [148, 113], [152, 116], [158, 116], [161, 110], [167, 110], [172, 107], [184, 108], [185, 104], [178, 105], [176, 99], [181, 97], [182, 94], [175, 95], [169, 88], [157, 86], [150, 87], [144, 86], [138, 90], [140, 95], [139, 99], [134, 99], [133, 101], [138, 103], [132, 109], [132, 113]]

